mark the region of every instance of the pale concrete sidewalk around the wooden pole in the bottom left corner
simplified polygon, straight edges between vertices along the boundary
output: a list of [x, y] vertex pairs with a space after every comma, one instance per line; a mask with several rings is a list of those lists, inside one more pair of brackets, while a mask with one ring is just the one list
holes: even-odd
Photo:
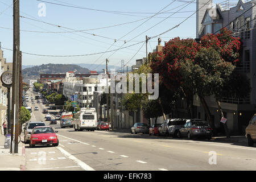
[[[21, 137], [23, 137], [21, 135]], [[0, 171], [20, 171], [25, 166], [24, 152], [25, 146], [20, 141], [18, 154], [10, 154], [10, 149], [5, 148], [5, 136], [0, 135]]]

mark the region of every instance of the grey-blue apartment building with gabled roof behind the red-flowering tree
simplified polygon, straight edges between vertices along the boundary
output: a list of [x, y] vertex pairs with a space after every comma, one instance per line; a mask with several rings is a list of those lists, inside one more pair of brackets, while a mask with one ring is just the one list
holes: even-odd
[[[197, 0], [196, 37], [201, 38], [207, 33], [217, 34], [220, 28], [226, 27], [233, 32], [232, 36], [240, 37], [242, 40], [240, 64], [236, 69], [250, 78], [252, 90], [250, 96], [244, 99], [223, 98], [221, 106], [225, 117], [228, 119], [227, 125], [230, 133], [243, 134], [249, 119], [256, 113], [256, 6], [254, 1], [245, 2], [243, 0], [239, 0], [236, 5], [229, 5], [229, 1], [212, 6], [208, 0]], [[215, 126], [224, 130], [222, 123], [220, 123], [220, 113], [215, 98], [210, 96], [205, 100]], [[206, 120], [203, 106], [196, 96], [193, 105], [196, 108], [197, 118]]]

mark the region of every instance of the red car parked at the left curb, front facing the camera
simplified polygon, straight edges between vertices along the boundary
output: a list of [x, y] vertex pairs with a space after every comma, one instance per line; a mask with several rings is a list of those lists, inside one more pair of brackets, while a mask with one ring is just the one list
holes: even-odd
[[30, 137], [30, 147], [32, 148], [36, 144], [52, 144], [52, 146], [58, 146], [59, 140], [56, 133], [57, 131], [53, 131], [50, 126], [34, 127]]

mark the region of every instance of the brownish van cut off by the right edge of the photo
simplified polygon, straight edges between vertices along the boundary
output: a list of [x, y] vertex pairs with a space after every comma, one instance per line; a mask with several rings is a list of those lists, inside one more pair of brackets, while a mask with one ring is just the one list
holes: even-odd
[[256, 114], [251, 117], [249, 125], [245, 129], [245, 137], [247, 138], [248, 146], [252, 147], [256, 142]]

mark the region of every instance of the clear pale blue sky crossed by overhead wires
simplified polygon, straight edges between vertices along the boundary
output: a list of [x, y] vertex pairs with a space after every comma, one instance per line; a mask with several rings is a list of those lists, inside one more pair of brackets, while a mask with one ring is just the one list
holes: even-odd
[[[20, 0], [20, 16], [24, 16], [24, 18], [20, 18], [22, 65], [48, 63], [105, 64], [105, 59], [107, 58], [110, 65], [121, 66], [121, 60], [125, 60], [125, 64], [131, 66], [135, 64], [136, 59], [146, 57], [146, 44], [143, 44], [146, 35], [148, 37], [159, 35], [175, 27], [196, 11], [196, 0], [192, 0], [193, 2], [190, 4], [188, 0], [42, 1]], [[43, 3], [45, 9], [42, 9], [43, 6], [38, 7], [40, 3]], [[56, 5], [56, 3], [59, 5]], [[13, 28], [12, 5], [13, 0], [0, 0], [0, 42], [2, 48], [13, 48], [13, 30], [6, 29]], [[122, 25], [114, 26], [118, 24]], [[96, 28], [98, 29], [95, 30]], [[86, 31], [81, 32], [80, 30]], [[180, 38], [195, 38], [196, 14], [180, 24], [179, 27], [161, 35], [162, 45], [164, 45], [164, 41], [177, 36]], [[154, 39], [149, 40], [148, 52], [152, 52], [155, 49], [158, 44], [158, 38], [156, 36]], [[117, 41], [115, 42], [115, 40]], [[133, 44], [137, 45], [132, 46]], [[118, 48], [123, 49], [113, 51]], [[6, 49], [3, 50], [7, 62], [11, 62], [13, 52]], [[100, 53], [105, 51], [112, 52]], [[38, 55], [70, 56], [35, 56], [27, 55], [25, 52]], [[72, 57], [72, 55], [85, 56]], [[88, 68], [90, 70], [95, 69], [93, 67]]]

